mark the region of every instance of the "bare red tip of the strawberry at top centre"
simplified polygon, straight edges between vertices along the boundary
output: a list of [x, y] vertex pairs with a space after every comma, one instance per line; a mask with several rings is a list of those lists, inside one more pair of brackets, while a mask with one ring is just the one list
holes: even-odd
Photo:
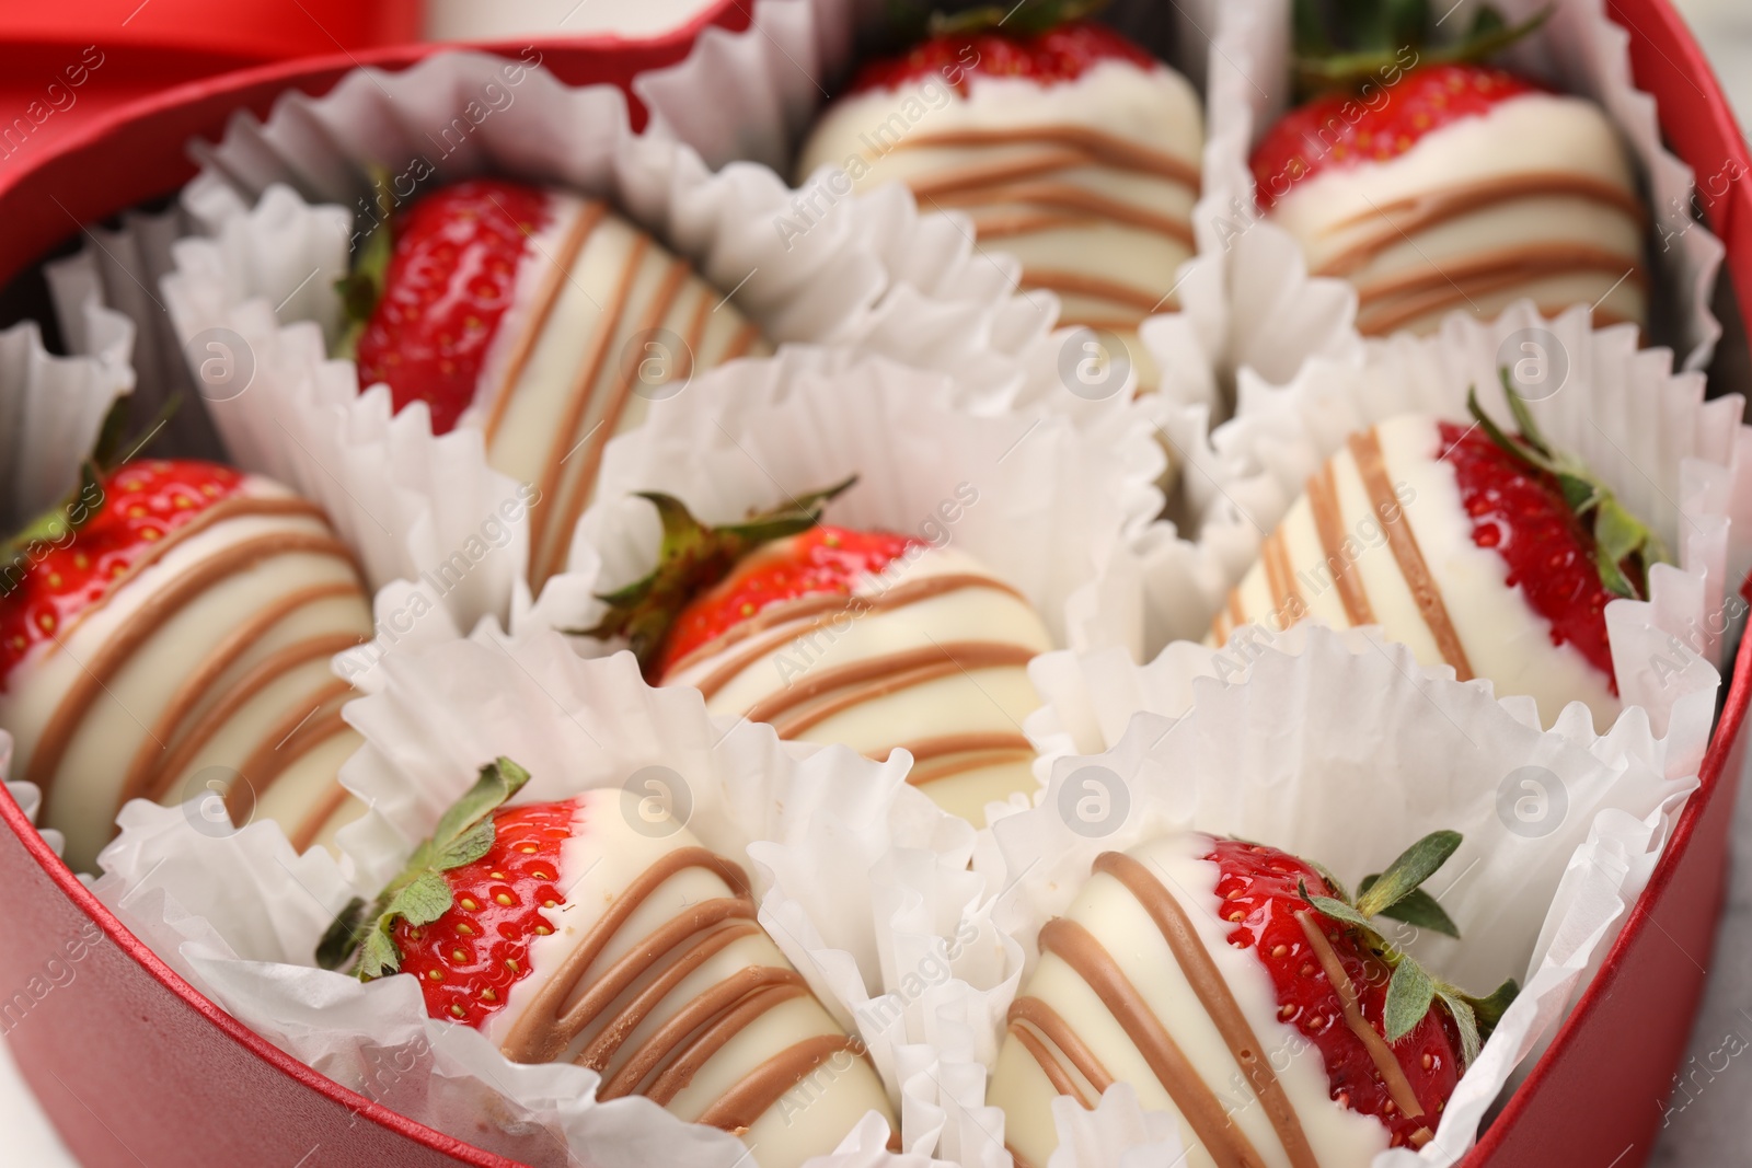
[[[953, 25], [953, 21], [951, 21]], [[965, 93], [965, 74], [986, 77], [1028, 77], [1041, 86], [1076, 81], [1100, 61], [1130, 61], [1139, 68], [1156, 63], [1146, 49], [1114, 30], [1091, 21], [1070, 21], [1030, 32], [955, 30], [939, 32], [897, 58], [867, 63], [851, 82], [851, 91], [897, 89], [922, 77], [946, 77]], [[1034, 25], [1037, 28], [1039, 23]]]

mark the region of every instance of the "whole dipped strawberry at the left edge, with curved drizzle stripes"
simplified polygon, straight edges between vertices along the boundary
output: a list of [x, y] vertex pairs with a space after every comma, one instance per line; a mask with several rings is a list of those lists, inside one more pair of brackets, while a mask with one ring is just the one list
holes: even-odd
[[[114, 424], [107, 424], [114, 436]], [[103, 443], [112, 445], [112, 443]], [[371, 636], [352, 553], [321, 508], [224, 466], [84, 466], [5, 546], [0, 728], [12, 777], [89, 867], [130, 799], [200, 795], [224, 828], [279, 820], [303, 848], [359, 806], [336, 772], [357, 746], [329, 658]]]

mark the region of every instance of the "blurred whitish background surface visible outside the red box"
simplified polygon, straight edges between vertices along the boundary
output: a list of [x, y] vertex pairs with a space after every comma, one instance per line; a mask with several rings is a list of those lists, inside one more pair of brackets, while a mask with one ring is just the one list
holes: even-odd
[[[673, 28], [713, 0], [431, 0], [426, 32], [433, 40], [517, 37], [554, 32], [646, 37]], [[1675, 0], [1715, 65], [1741, 124], [1752, 124], [1752, 0]], [[1717, 977], [1692, 1038], [1698, 1066], [1722, 1047], [1729, 1031], [1752, 1040], [1752, 792], [1740, 800], [1729, 918], [1713, 958]], [[1722, 975], [1726, 974], [1726, 975]], [[1706, 1073], [1706, 1072], [1703, 1072]], [[0, 1161], [18, 1168], [77, 1168], [0, 1042]], [[1680, 1168], [1748, 1163], [1752, 1149], [1752, 1068], [1734, 1063], [1684, 1112], [1670, 1115], [1650, 1164]], [[147, 1168], [161, 1168], [151, 1164]], [[1603, 1168], [1603, 1166], [1601, 1166]]]

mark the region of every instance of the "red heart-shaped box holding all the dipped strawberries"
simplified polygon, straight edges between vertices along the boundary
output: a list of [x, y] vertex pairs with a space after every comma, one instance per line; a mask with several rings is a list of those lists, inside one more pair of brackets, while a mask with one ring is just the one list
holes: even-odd
[[[1673, 149], [1710, 182], [1699, 196], [1727, 242], [1740, 303], [1752, 305], [1752, 175], [1747, 144], [1708, 63], [1666, 0], [1612, 0], [1631, 32], [1636, 84], [1656, 95]], [[676, 33], [645, 42], [540, 44], [545, 65], [571, 84], [611, 82], [680, 61], [708, 25], [745, 28], [724, 4]], [[515, 56], [524, 46], [505, 47]], [[237, 109], [266, 114], [287, 89], [322, 93], [357, 65], [405, 67], [431, 46], [305, 60], [191, 82], [82, 124], [0, 173], [0, 285], [81, 224], [175, 191], [193, 177], [184, 145], [217, 138]], [[634, 102], [634, 107], [638, 103]], [[636, 124], [643, 110], [634, 109]], [[1717, 193], [1713, 187], [1722, 186]], [[1724, 352], [1743, 354], [1752, 315], [1727, 320]], [[1717, 361], [1717, 376], [1729, 364]], [[1743, 366], [1738, 366], [1743, 369]], [[1738, 376], [1747, 376], [1740, 373]], [[1724, 387], [1752, 391], [1752, 383]], [[1556, 1163], [1642, 1163], [1661, 1101], [1691, 1035], [1720, 914], [1727, 827], [1747, 767], [1752, 637], [1740, 646], [1703, 786], [1687, 804], [1654, 877], [1605, 967], [1545, 1058], [1466, 1157], [1468, 1168]], [[517, 1168], [410, 1122], [298, 1063], [194, 993], [91, 897], [19, 807], [0, 792], [0, 1031], [74, 1154], [91, 1168], [315, 1164], [357, 1168]], [[100, 937], [91, 944], [74, 939]], [[67, 944], [82, 956], [67, 961]], [[40, 1000], [14, 996], [46, 968], [70, 981]], [[14, 1017], [14, 1014], [18, 1014]], [[541, 1149], [545, 1163], [557, 1150]], [[531, 1159], [536, 1154], [531, 1152]]]

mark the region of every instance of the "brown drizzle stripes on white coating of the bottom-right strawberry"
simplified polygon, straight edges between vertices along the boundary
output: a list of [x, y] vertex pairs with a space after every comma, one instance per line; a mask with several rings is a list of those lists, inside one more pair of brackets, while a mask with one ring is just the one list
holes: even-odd
[[[1247, 1023], [1240, 1003], [1211, 958], [1211, 951], [1186, 916], [1186, 909], [1148, 867], [1125, 853], [1102, 853], [1091, 870], [1116, 879], [1149, 914], [1193, 995], [1223, 1037], [1235, 1066], [1260, 1100], [1291, 1168], [1319, 1168], [1307, 1133], [1302, 1129], [1302, 1121], [1277, 1080], [1265, 1044]], [[1218, 1164], [1228, 1168], [1265, 1163], [1169, 1035], [1163, 1019], [1149, 1009], [1120, 963], [1093, 933], [1063, 918], [1048, 921], [1041, 930], [1041, 953], [1051, 953], [1063, 960], [1095, 991]], [[1093, 1108], [1095, 1103], [1081, 1091], [1063, 1063], [1069, 1063], [1069, 1068], [1074, 1068], [1083, 1080], [1095, 1087], [1097, 1096], [1113, 1082], [1113, 1075], [1076, 1030], [1039, 998], [1021, 996], [1011, 1005], [1009, 1031], [1034, 1056], [1053, 1087], [1060, 1094], [1079, 1100], [1083, 1107]], [[1403, 1072], [1400, 1077], [1403, 1079]]]

